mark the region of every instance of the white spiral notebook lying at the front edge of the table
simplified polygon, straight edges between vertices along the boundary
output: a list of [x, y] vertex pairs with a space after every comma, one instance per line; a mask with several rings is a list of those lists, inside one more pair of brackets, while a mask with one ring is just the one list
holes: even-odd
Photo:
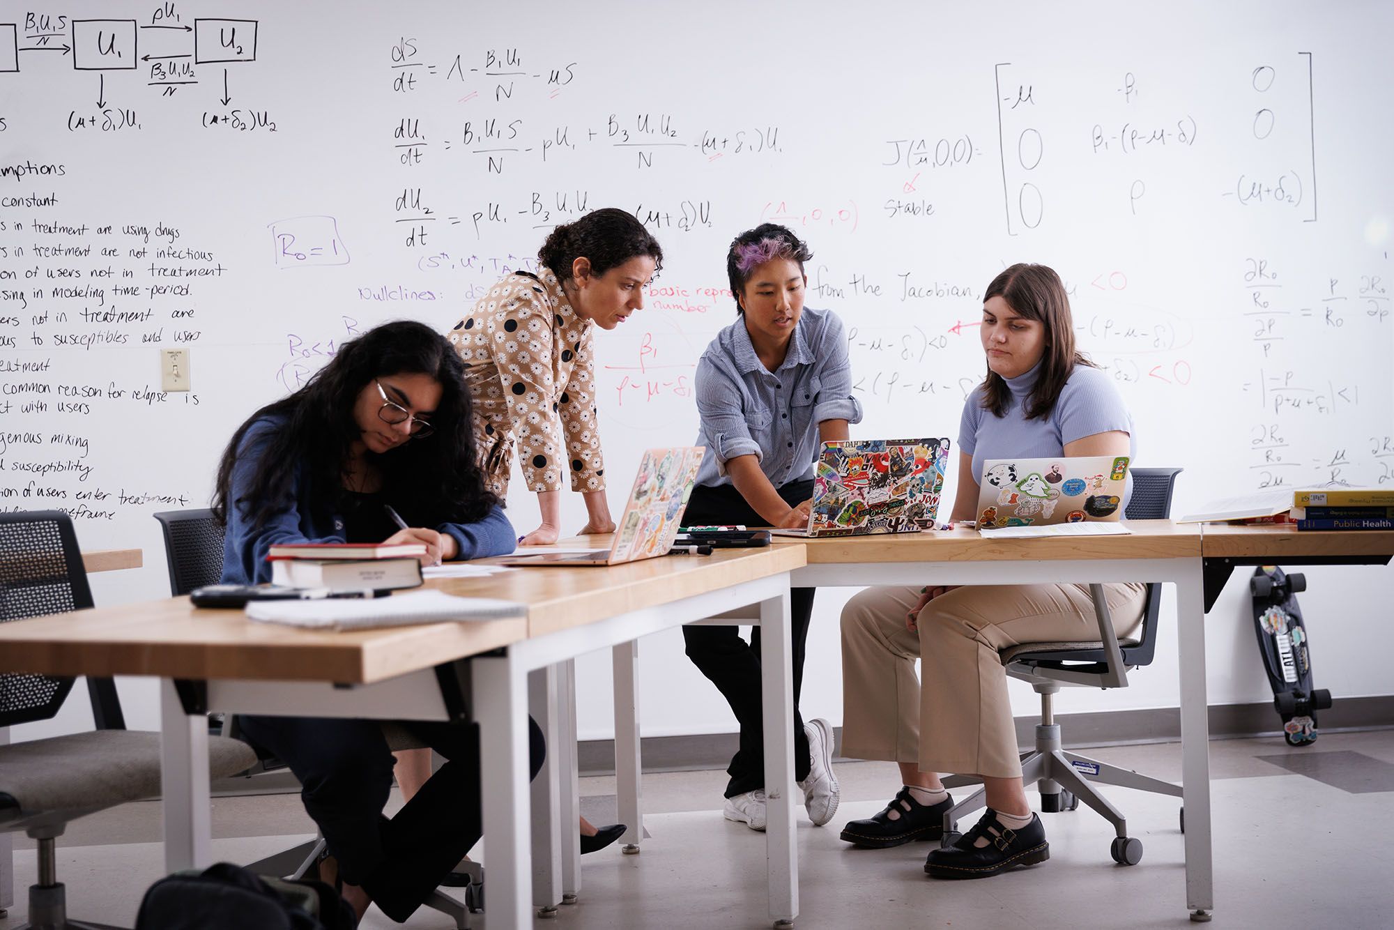
[[247, 616], [259, 623], [282, 623], [315, 630], [371, 630], [382, 626], [503, 620], [523, 616], [514, 601], [456, 597], [443, 591], [413, 591], [369, 600], [251, 601]]

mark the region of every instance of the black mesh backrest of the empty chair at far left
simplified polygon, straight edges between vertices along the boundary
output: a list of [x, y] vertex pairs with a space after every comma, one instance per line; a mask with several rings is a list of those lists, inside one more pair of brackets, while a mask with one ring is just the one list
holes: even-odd
[[[0, 513], [0, 623], [92, 607], [82, 552], [60, 510]], [[0, 673], [0, 726], [49, 719], [71, 678]]]

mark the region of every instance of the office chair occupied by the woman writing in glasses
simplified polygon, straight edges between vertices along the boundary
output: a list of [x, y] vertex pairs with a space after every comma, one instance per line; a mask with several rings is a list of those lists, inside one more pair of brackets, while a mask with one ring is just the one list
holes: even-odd
[[[202, 510], [164, 510], [153, 514], [160, 521], [160, 531], [164, 535], [164, 558], [170, 572], [170, 594], [180, 597], [197, 587], [216, 584], [223, 576], [223, 524], [213, 517], [213, 512]], [[237, 717], [230, 719], [223, 714], [209, 714], [209, 732], [226, 731], [229, 736], [237, 738], [240, 728]], [[422, 743], [408, 731], [395, 724], [383, 724], [382, 735], [388, 739], [388, 749], [399, 752], [403, 749], [424, 749]], [[233, 772], [251, 778], [261, 771], [275, 771], [286, 768], [286, 763], [279, 759], [255, 759], [245, 771]], [[251, 871], [290, 878], [304, 878], [315, 867], [321, 853], [325, 851], [322, 837], [283, 849], [279, 853], [259, 859], [247, 867]], [[467, 883], [466, 904], [460, 905], [439, 891], [427, 899], [427, 906], [441, 910], [454, 919], [457, 930], [468, 930], [470, 913], [484, 908], [484, 869], [478, 863], [464, 863], [460, 881]], [[314, 876], [311, 876], [314, 877]]]

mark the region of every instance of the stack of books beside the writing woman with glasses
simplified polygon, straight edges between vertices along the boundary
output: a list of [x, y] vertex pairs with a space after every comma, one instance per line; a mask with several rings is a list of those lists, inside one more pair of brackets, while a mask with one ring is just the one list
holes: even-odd
[[301, 542], [273, 545], [266, 554], [270, 580], [298, 588], [395, 591], [421, 584], [420, 542]]

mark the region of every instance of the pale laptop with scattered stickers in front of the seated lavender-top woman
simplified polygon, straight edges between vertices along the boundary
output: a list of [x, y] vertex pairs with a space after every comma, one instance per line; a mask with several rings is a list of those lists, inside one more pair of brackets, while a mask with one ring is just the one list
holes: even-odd
[[988, 459], [977, 528], [1001, 535], [1126, 533], [1118, 526], [1126, 491], [1128, 456]]

